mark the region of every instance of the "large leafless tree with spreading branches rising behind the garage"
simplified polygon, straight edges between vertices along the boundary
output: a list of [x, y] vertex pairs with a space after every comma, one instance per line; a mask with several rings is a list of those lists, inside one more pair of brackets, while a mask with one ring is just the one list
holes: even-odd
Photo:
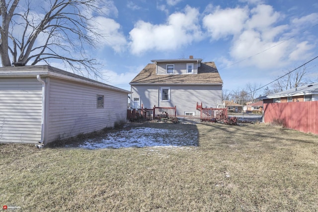
[[102, 36], [94, 17], [104, 8], [100, 0], [0, 0], [2, 66], [60, 60], [74, 72], [100, 76], [86, 51]]

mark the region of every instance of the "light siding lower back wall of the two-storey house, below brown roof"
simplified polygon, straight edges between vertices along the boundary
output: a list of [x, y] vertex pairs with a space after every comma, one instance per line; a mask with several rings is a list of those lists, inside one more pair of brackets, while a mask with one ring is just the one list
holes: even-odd
[[[170, 88], [170, 101], [160, 101], [161, 87]], [[158, 98], [159, 90], [159, 98]], [[203, 104], [203, 107], [216, 108], [222, 104], [221, 85], [135, 85], [132, 86], [132, 97], [140, 97], [144, 108], [177, 107], [177, 115], [184, 115], [184, 112], [195, 112], [196, 103]]]

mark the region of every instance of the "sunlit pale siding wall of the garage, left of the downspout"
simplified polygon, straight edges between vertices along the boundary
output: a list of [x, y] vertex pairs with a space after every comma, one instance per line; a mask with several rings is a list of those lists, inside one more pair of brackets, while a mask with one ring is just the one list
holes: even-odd
[[41, 141], [42, 83], [36, 78], [0, 79], [0, 141]]

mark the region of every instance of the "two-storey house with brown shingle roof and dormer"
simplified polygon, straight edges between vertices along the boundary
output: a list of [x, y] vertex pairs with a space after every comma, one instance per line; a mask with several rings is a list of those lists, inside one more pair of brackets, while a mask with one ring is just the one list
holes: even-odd
[[152, 60], [130, 82], [131, 107], [174, 107], [176, 115], [195, 115], [196, 104], [222, 103], [223, 81], [214, 62], [202, 59]]

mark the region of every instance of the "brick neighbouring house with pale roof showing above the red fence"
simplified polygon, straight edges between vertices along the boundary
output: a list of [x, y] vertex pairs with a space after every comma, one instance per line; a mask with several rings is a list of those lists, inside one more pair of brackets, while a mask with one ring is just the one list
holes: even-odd
[[260, 97], [264, 103], [318, 101], [318, 82]]

